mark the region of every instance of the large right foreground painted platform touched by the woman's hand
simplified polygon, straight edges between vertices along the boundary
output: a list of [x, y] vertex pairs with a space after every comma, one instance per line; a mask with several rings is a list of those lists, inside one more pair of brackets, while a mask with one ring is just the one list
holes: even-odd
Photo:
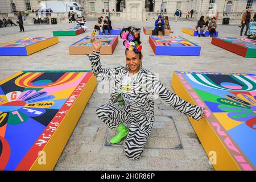
[[256, 75], [174, 72], [172, 87], [207, 109], [205, 121], [189, 119], [215, 169], [256, 169]]

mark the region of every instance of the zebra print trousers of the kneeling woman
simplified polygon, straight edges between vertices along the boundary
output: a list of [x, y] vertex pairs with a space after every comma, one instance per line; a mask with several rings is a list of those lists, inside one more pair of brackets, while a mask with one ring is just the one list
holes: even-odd
[[124, 151], [128, 158], [140, 159], [152, 127], [141, 127], [142, 123], [133, 122], [129, 109], [117, 104], [100, 105], [96, 110], [96, 114], [109, 129], [114, 129], [121, 123], [130, 125]]

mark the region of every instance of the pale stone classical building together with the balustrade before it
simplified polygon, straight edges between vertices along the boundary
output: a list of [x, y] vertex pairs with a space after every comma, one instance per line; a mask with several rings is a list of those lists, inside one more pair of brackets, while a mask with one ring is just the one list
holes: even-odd
[[[48, 0], [58, 1], [58, 0]], [[61, 0], [59, 0], [61, 1]], [[63, 0], [62, 0], [63, 1]], [[72, 1], [72, 0], [64, 0]], [[109, 15], [113, 20], [150, 20], [159, 14], [173, 18], [176, 9], [182, 11], [195, 10], [195, 19], [201, 15], [214, 16], [219, 13], [220, 23], [223, 18], [230, 18], [231, 24], [238, 24], [242, 13], [251, 8], [256, 10], [256, 0], [73, 0], [84, 7], [86, 18], [98, 18]], [[40, 0], [1, 0], [0, 16], [14, 10], [39, 9]], [[1, 13], [3, 15], [1, 15]]]

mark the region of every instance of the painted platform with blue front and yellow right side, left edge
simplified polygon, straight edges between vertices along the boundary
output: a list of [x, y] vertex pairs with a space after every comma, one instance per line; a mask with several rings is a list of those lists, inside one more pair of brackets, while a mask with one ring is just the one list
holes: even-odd
[[53, 36], [36, 36], [0, 43], [0, 56], [28, 56], [59, 43]]

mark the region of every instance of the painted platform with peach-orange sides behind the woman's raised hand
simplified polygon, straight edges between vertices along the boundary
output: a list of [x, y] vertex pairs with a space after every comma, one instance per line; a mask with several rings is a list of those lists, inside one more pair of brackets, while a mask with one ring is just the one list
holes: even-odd
[[[92, 53], [93, 46], [90, 42], [92, 36], [86, 36], [81, 40], [71, 44], [68, 47], [69, 55], [85, 55], [85, 53]], [[95, 39], [101, 39], [101, 55], [112, 55], [114, 52], [115, 47], [118, 43], [118, 35], [98, 35], [95, 36]]]

